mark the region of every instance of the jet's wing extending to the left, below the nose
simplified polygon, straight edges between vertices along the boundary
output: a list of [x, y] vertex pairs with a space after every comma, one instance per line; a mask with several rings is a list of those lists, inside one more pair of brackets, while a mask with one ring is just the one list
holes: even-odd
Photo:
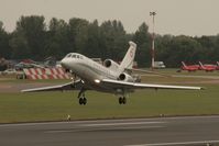
[[58, 86], [50, 86], [50, 87], [42, 87], [42, 88], [32, 88], [32, 89], [24, 89], [21, 92], [37, 92], [37, 91], [64, 91], [64, 90], [79, 90], [83, 86], [81, 80], [76, 80], [75, 82], [68, 82], [65, 85]]

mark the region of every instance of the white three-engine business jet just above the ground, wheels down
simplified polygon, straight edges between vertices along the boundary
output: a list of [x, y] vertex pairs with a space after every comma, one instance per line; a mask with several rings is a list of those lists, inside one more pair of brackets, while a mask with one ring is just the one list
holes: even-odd
[[86, 104], [87, 99], [85, 97], [85, 91], [97, 90], [114, 93], [119, 97], [119, 103], [125, 104], [125, 97], [135, 89], [202, 89], [201, 87], [140, 83], [139, 79], [130, 74], [130, 70], [132, 70], [136, 45], [133, 42], [129, 42], [129, 44], [130, 47], [120, 65], [111, 59], [106, 59], [103, 65], [101, 65], [81, 54], [69, 53], [62, 59], [61, 65], [65, 69], [69, 69], [80, 79], [74, 79], [72, 82], [59, 86], [25, 89], [22, 90], [22, 92], [79, 90], [79, 104]]

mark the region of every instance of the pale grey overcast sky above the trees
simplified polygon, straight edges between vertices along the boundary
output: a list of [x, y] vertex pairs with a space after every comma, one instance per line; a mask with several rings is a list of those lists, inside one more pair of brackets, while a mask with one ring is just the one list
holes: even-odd
[[120, 20], [127, 32], [146, 22], [152, 30], [150, 11], [156, 11], [155, 31], [173, 35], [219, 34], [219, 0], [0, 0], [0, 21], [9, 32], [21, 15], [44, 15], [89, 21]]

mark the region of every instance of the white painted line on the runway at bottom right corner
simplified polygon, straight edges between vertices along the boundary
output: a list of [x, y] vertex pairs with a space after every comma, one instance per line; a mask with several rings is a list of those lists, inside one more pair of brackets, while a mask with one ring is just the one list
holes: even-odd
[[158, 143], [158, 144], [138, 144], [138, 145], [125, 145], [125, 146], [176, 146], [176, 145], [216, 144], [216, 143], [219, 143], [219, 141]]

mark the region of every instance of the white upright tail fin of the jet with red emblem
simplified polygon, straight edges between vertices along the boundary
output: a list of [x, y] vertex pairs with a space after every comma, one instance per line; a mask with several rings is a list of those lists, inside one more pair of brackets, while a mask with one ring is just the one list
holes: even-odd
[[119, 67], [121, 71], [124, 71], [124, 69], [132, 69], [132, 66], [133, 66], [136, 44], [130, 41], [129, 45], [130, 47]]

